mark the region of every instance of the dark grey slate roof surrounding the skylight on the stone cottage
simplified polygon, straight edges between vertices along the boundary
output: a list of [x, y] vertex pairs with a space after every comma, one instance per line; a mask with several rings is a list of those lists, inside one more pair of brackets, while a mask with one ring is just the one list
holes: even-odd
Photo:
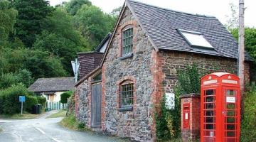
[[[223, 24], [213, 16], [183, 13], [133, 0], [127, 0], [127, 6], [135, 13], [149, 38], [160, 50], [178, 50], [238, 58], [238, 42]], [[200, 32], [213, 45], [215, 50], [191, 47], [178, 33], [177, 29]], [[245, 60], [253, 59], [250, 58], [248, 53], [245, 53]]]

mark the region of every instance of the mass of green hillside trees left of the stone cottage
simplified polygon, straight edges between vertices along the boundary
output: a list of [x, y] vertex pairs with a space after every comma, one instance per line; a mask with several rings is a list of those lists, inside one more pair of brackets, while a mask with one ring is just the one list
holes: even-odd
[[47, 0], [0, 0], [0, 89], [73, 75], [70, 61], [95, 48], [115, 17], [89, 0], [55, 8]]

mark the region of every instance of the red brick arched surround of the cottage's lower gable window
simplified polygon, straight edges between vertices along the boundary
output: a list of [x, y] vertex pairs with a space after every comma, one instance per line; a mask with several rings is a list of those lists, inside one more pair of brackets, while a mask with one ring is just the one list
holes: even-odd
[[136, 101], [137, 101], [137, 96], [136, 96], [136, 79], [134, 77], [122, 77], [121, 80], [118, 80], [117, 81], [117, 110], [119, 109], [120, 107], [120, 89], [121, 89], [121, 85], [122, 85], [122, 82], [125, 82], [127, 80], [131, 80], [132, 83], [133, 83], [133, 110], [132, 111], [136, 111]]

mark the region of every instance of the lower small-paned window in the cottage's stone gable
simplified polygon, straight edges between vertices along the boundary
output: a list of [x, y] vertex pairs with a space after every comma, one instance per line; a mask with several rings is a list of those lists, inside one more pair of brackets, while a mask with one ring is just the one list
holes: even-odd
[[133, 104], [133, 84], [124, 84], [121, 89], [121, 107]]

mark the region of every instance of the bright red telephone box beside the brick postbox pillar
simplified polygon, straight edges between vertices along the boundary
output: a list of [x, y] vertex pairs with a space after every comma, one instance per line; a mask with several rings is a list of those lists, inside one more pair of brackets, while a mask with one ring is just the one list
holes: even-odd
[[201, 78], [201, 142], [239, 142], [239, 77], [215, 72]]

